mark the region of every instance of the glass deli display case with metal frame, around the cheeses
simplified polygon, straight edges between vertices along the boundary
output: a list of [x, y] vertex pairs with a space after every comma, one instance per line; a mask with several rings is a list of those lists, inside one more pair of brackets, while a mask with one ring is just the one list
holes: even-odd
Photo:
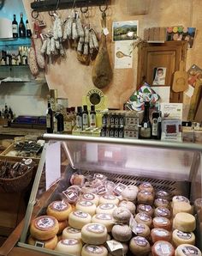
[[[188, 198], [196, 219], [195, 246], [202, 249], [201, 145], [62, 134], [45, 134], [44, 138], [46, 143], [18, 247], [49, 255], [72, 255], [68, 251], [62, 253], [45, 248], [43, 241], [35, 241], [33, 245], [27, 241], [33, 219], [46, 216], [50, 203], [67, 199], [65, 192], [72, 185], [72, 175], [79, 174], [84, 176], [87, 183], [103, 175], [110, 186], [107, 192], [116, 194], [119, 199], [120, 194], [115, 192], [115, 187], [120, 184], [124, 187], [140, 186], [143, 182], [150, 183], [156, 192], [168, 192], [171, 198], [179, 195]], [[51, 175], [55, 180], [51, 180]], [[56, 179], [57, 176], [59, 179]], [[102, 189], [106, 190], [106, 183], [99, 185], [99, 188], [94, 187], [93, 192], [102, 195], [99, 189], [104, 186]]]

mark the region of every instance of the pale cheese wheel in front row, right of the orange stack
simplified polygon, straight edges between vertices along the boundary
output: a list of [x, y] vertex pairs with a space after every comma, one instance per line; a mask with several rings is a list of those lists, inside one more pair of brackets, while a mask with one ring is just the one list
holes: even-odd
[[74, 256], [80, 256], [82, 250], [82, 243], [77, 239], [64, 239], [58, 241], [56, 251], [61, 253], [68, 253]]

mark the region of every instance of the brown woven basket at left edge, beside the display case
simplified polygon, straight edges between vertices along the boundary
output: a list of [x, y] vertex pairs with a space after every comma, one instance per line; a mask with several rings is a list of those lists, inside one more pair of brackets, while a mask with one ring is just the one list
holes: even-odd
[[21, 192], [29, 186], [33, 179], [33, 168], [30, 168], [25, 174], [14, 179], [0, 178], [0, 188], [3, 192]]

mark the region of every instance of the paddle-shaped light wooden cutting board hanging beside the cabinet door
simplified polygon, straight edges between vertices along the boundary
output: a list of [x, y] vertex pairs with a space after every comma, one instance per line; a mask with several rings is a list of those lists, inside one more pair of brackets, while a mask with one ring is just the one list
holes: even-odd
[[188, 88], [188, 75], [185, 71], [185, 63], [183, 60], [180, 62], [180, 70], [175, 71], [173, 78], [172, 90], [175, 93], [184, 92]]

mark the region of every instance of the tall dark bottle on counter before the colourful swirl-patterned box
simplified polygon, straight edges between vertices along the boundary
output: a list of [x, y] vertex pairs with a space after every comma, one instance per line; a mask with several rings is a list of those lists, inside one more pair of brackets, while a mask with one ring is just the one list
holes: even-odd
[[140, 124], [140, 138], [151, 138], [151, 121], [149, 117], [150, 102], [145, 102], [145, 112]]

